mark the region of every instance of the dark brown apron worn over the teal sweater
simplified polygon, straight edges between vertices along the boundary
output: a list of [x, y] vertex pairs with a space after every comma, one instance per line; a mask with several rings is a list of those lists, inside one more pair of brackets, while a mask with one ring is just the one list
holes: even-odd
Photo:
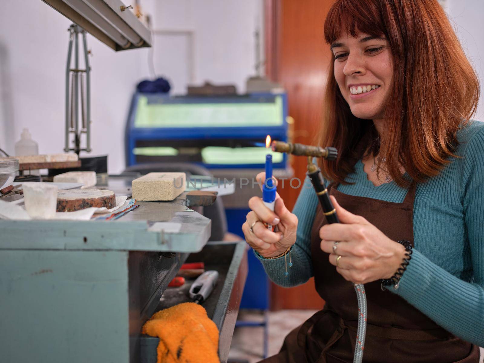
[[[403, 203], [353, 197], [328, 187], [330, 195], [349, 212], [362, 215], [393, 241], [413, 246], [415, 183]], [[311, 232], [311, 258], [318, 294], [324, 309], [289, 333], [279, 354], [262, 362], [353, 362], [358, 325], [358, 301], [346, 281], [321, 251], [319, 229], [326, 224], [318, 205]], [[410, 262], [411, 263], [411, 262]], [[479, 348], [441, 328], [403, 298], [382, 291], [379, 281], [364, 285], [368, 304], [363, 362], [478, 363]], [[439, 302], [436, 302], [439, 303]]]

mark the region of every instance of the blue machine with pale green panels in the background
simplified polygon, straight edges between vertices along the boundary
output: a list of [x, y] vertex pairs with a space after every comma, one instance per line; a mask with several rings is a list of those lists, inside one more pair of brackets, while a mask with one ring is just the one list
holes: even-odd
[[[126, 126], [126, 165], [150, 162], [191, 162], [218, 170], [255, 176], [263, 171], [266, 136], [287, 141], [287, 95], [253, 93], [240, 96], [177, 96], [136, 93]], [[273, 168], [287, 168], [287, 155], [273, 153]], [[257, 172], [258, 172], [257, 171]], [[230, 171], [229, 171], [230, 173]], [[250, 196], [258, 191], [246, 191]], [[228, 231], [242, 234], [250, 211], [241, 190], [239, 205], [226, 205]], [[252, 250], [241, 308], [269, 308], [269, 279]], [[267, 318], [237, 322], [237, 326], [264, 327], [267, 356]]]

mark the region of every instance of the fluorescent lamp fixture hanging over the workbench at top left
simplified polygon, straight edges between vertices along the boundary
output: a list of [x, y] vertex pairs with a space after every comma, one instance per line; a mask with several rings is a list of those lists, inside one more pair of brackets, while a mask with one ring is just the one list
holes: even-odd
[[120, 0], [42, 1], [116, 51], [151, 46], [150, 30]]

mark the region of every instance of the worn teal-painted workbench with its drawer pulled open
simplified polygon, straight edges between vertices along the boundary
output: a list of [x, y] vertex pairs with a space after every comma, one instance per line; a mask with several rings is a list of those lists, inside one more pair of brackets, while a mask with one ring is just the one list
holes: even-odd
[[[106, 189], [129, 195], [130, 184], [121, 178]], [[138, 202], [116, 221], [0, 220], [1, 360], [156, 362], [158, 339], [141, 327], [154, 312], [189, 301], [189, 284], [167, 289], [188, 259], [220, 273], [202, 306], [227, 362], [247, 275], [245, 242], [207, 244], [211, 221], [187, 200], [185, 192], [171, 202]]]

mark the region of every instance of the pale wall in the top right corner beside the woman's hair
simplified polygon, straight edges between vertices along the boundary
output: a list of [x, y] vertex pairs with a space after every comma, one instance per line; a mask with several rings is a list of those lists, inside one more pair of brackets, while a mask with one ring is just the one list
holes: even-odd
[[444, 9], [454, 21], [457, 36], [477, 71], [481, 83], [481, 99], [475, 116], [484, 121], [484, 1], [443, 0]]

